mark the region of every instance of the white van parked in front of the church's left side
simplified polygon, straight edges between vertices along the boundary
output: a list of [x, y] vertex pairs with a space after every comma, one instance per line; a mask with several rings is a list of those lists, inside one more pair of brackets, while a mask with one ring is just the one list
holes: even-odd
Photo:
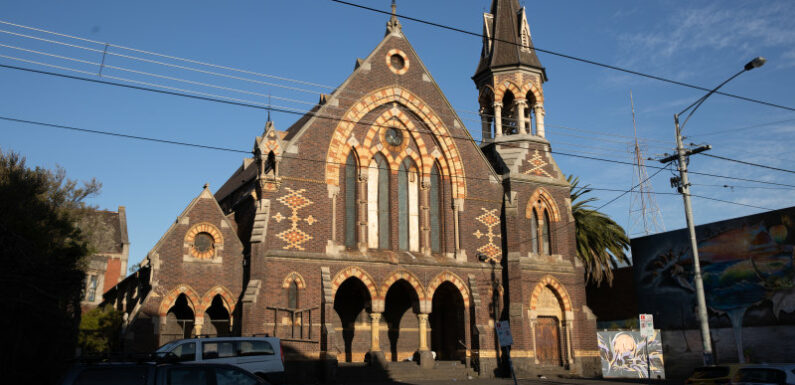
[[169, 342], [155, 354], [170, 362], [230, 364], [271, 383], [284, 379], [284, 349], [276, 337], [210, 337]]

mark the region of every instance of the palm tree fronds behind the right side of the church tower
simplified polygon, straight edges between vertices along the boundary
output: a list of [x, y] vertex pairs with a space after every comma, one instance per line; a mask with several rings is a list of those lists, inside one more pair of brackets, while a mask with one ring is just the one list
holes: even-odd
[[629, 264], [626, 250], [629, 237], [624, 229], [607, 215], [589, 205], [597, 198], [580, 200], [592, 190], [578, 186], [579, 177], [569, 175], [571, 185], [571, 213], [574, 216], [577, 238], [577, 257], [585, 265], [585, 279], [600, 285], [602, 281], [613, 284], [613, 269], [619, 263]]

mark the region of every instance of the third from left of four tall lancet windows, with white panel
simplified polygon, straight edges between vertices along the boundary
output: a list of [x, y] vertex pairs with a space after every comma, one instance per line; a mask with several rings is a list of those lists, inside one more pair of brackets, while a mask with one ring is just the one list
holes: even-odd
[[401, 250], [420, 250], [419, 174], [411, 158], [398, 171], [398, 234]]

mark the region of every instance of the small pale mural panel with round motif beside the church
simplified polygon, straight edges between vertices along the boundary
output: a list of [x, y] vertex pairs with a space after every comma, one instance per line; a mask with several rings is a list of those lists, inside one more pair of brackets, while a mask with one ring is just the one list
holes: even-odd
[[596, 332], [605, 378], [665, 378], [660, 331], [645, 339], [638, 330]]

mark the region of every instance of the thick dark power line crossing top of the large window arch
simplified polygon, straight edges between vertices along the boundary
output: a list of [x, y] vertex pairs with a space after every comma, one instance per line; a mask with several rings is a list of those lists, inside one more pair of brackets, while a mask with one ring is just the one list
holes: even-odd
[[[0, 57], [2, 57], [2, 56], [3, 55], [0, 55]], [[347, 120], [347, 119], [344, 119], [344, 118], [338, 118], [338, 117], [332, 117], [332, 116], [324, 116], [324, 115], [321, 115], [321, 114], [318, 114], [318, 113], [313, 113], [311, 111], [304, 113], [304, 112], [292, 111], [290, 109], [285, 109], [283, 107], [278, 107], [278, 106], [274, 107], [274, 106], [270, 106], [270, 105], [252, 104], [252, 103], [243, 102], [243, 101], [216, 99], [216, 98], [212, 98], [212, 97], [208, 97], [208, 96], [191, 95], [191, 94], [175, 92], [175, 91], [168, 91], [168, 90], [159, 90], [159, 89], [136, 86], [136, 85], [131, 85], [131, 84], [110, 82], [110, 81], [106, 81], [106, 80], [91, 79], [91, 78], [85, 78], [85, 77], [74, 76], [74, 75], [60, 74], [60, 73], [56, 73], [56, 72], [42, 71], [42, 70], [36, 70], [36, 69], [32, 69], [32, 68], [11, 66], [11, 65], [7, 65], [7, 64], [0, 64], [0, 67], [9, 68], [9, 69], [16, 69], [16, 70], [32, 72], [32, 73], [38, 73], [38, 74], [43, 74], [43, 75], [51, 75], [51, 76], [63, 77], [63, 78], [74, 79], [74, 80], [83, 80], [83, 81], [92, 82], [92, 83], [98, 83], [98, 84], [113, 85], [113, 86], [129, 88], [129, 89], [135, 89], [135, 90], [140, 90], [140, 91], [149, 91], [149, 92], [155, 92], [155, 93], [166, 94], [166, 95], [182, 96], [182, 97], [191, 98], [191, 99], [204, 100], [204, 101], [210, 101], [210, 102], [218, 102], [218, 103], [224, 103], [224, 104], [235, 105], [235, 106], [240, 106], [240, 107], [249, 107], [249, 108], [256, 108], [256, 109], [261, 109], [261, 110], [271, 110], [271, 111], [282, 112], [282, 113], [287, 113], [287, 114], [294, 114], [294, 115], [301, 115], [301, 116], [309, 115], [309, 116], [314, 116], [314, 117], [317, 117], [317, 118], [320, 118], [320, 119], [328, 119], [328, 120], [340, 121], [340, 122], [361, 123], [361, 122], [350, 121], [350, 120]], [[231, 98], [228, 98], [228, 99], [231, 99]], [[375, 126], [377, 124], [375, 124], [373, 122], [372, 125]], [[381, 126], [383, 126], [383, 125], [381, 125]], [[401, 128], [401, 129], [405, 130], [405, 131], [409, 131], [406, 128]], [[414, 130], [414, 131], [415, 132], [426, 132], [426, 131], [420, 131], [420, 130]], [[430, 132], [426, 132], [426, 133], [430, 133]], [[433, 133], [431, 133], [431, 134], [433, 134]], [[467, 140], [467, 141], [472, 141], [471, 137], [459, 137], [459, 136], [454, 136], [454, 135], [440, 135], [440, 136], [448, 136], [448, 137], [454, 138], [454, 139], [464, 139], [464, 140]], [[510, 146], [507, 143], [503, 144], [503, 145]], [[516, 147], [516, 146], [513, 146], [513, 147]], [[598, 157], [593, 157], [593, 156], [577, 155], [577, 154], [571, 154], [571, 153], [565, 153], [565, 152], [559, 152], [559, 151], [551, 151], [551, 150], [543, 150], [543, 151], [544, 152], [549, 152], [549, 153], [552, 153], [552, 154], [559, 154], [559, 155], [571, 156], [571, 157], [582, 158], [582, 159], [591, 159], [591, 160], [598, 160], [598, 161], [602, 161], [602, 162], [610, 162], [610, 163], [615, 163], [615, 164], [624, 164], [624, 165], [632, 165], [632, 166], [634, 166], [634, 163], [632, 163], [632, 162], [625, 162], [625, 161], [619, 161], [619, 160], [613, 160], [613, 159], [604, 159], [604, 158], [598, 158]], [[648, 166], [648, 167], [657, 168], [657, 169], [664, 169], [663, 167], [659, 167], [659, 166]], [[746, 182], [778, 185], [778, 186], [785, 186], [785, 187], [795, 187], [795, 185], [789, 185], [789, 184], [783, 184], [783, 183], [766, 182], [766, 181], [759, 181], [759, 180], [753, 180], [753, 179], [745, 179], [745, 178], [737, 178], [737, 177], [730, 177], [730, 176], [724, 176], [724, 175], [701, 173], [701, 172], [696, 172], [696, 171], [691, 171], [690, 173], [691, 174], [697, 174], [697, 175], [711, 176], [711, 177], [716, 177], [716, 178], [726, 178], [726, 179], [742, 180], [742, 181], [746, 181]]]

